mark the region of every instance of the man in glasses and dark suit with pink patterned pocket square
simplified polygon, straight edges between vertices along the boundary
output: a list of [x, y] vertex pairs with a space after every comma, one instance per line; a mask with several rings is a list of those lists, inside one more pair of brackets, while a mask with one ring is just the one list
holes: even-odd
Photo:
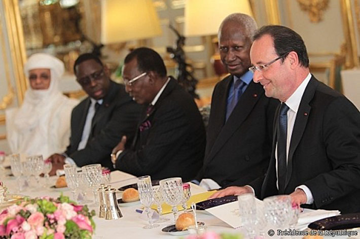
[[177, 81], [166, 75], [160, 55], [141, 47], [125, 58], [126, 91], [144, 106], [135, 139], [127, 137], [113, 150], [115, 168], [152, 179], [192, 179], [201, 167], [205, 128], [199, 110]]

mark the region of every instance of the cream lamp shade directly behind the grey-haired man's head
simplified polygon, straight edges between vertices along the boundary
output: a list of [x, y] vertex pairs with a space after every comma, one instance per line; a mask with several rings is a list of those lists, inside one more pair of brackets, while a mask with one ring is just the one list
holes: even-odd
[[184, 34], [218, 34], [221, 22], [232, 13], [253, 16], [248, 0], [186, 0]]

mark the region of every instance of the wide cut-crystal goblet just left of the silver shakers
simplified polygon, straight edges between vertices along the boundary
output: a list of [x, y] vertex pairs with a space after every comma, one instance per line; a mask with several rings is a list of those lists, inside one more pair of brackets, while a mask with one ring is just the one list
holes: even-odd
[[102, 180], [101, 164], [90, 164], [81, 167], [81, 169], [83, 172], [85, 172], [88, 185], [91, 187], [94, 194], [94, 206], [97, 206], [99, 200], [96, 189]]

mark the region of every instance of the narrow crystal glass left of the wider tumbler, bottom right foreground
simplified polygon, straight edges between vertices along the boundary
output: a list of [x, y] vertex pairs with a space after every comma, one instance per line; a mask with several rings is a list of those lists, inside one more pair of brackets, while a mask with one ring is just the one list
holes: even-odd
[[253, 194], [242, 194], [237, 197], [242, 225], [246, 228], [249, 238], [255, 237], [256, 202]]

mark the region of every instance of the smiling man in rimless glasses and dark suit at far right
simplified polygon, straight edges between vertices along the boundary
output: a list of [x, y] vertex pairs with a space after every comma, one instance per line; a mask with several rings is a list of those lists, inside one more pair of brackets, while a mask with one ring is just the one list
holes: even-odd
[[[254, 81], [281, 105], [266, 176], [249, 185], [261, 199], [290, 194], [296, 205], [360, 212], [359, 111], [309, 73], [306, 46], [295, 31], [264, 26], [254, 38]], [[251, 188], [229, 187], [214, 197], [244, 192]]]

